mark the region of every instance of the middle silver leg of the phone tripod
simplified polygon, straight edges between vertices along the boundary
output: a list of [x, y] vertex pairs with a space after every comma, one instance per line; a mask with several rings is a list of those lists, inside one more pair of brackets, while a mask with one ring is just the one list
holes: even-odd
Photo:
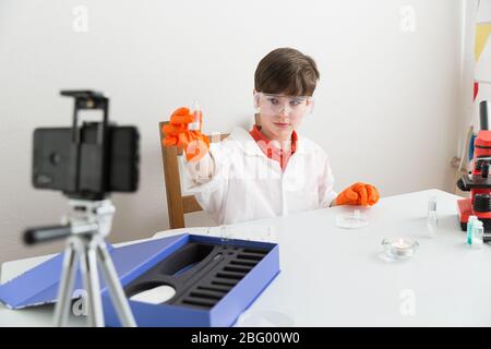
[[82, 279], [87, 291], [88, 326], [104, 327], [104, 312], [100, 300], [99, 276], [97, 273], [97, 254], [91, 241], [85, 241], [80, 257]]

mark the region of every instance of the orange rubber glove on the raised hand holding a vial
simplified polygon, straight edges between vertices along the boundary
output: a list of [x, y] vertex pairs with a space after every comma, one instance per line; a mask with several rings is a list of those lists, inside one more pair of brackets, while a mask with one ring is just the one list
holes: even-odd
[[[200, 113], [200, 119], [201, 119]], [[189, 161], [199, 161], [209, 149], [209, 140], [200, 130], [188, 129], [194, 117], [188, 108], [178, 108], [170, 116], [169, 123], [163, 127], [165, 146], [182, 147]], [[201, 120], [200, 120], [201, 121]]]

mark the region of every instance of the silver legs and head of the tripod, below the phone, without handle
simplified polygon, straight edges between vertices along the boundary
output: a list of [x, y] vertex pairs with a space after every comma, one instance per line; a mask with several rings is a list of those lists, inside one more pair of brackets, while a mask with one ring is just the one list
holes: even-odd
[[71, 292], [75, 279], [76, 260], [79, 258], [82, 281], [87, 292], [88, 326], [101, 327], [105, 324], [97, 273], [98, 264], [121, 325], [135, 327], [136, 323], [104, 241], [111, 229], [115, 206], [109, 200], [71, 200], [69, 204], [72, 208], [72, 216], [69, 218], [71, 231], [64, 252], [58, 303], [55, 308], [56, 325], [67, 325], [72, 299]]

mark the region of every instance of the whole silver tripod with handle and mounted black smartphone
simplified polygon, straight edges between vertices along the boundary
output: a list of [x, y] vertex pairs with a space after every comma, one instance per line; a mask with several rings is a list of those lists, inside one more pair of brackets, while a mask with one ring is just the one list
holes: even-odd
[[[24, 241], [34, 244], [67, 239], [55, 308], [58, 326], [68, 322], [77, 264], [87, 292], [88, 325], [105, 324], [99, 266], [121, 325], [135, 326], [104, 239], [111, 230], [116, 210], [107, 194], [137, 189], [140, 136], [136, 128], [109, 124], [109, 98], [103, 93], [91, 89], [60, 93], [74, 98], [72, 128], [35, 131], [32, 174], [35, 188], [59, 190], [70, 197], [71, 213], [62, 226], [27, 229]], [[101, 121], [82, 122], [79, 116], [82, 110], [101, 110]]]

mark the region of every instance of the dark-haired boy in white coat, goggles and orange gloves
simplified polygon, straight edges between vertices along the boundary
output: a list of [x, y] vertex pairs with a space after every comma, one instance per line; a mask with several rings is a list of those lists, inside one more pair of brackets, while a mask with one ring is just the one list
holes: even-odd
[[378, 202], [376, 189], [364, 183], [337, 194], [327, 155], [296, 131], [312, 111], [319, 76], [313, 59], [296, 49], [270, 52], [254, 75], [256, 124], [250, 132], [236, 128], [219, 143], [190, 131], [196, 115], [188, 108], [172, 113], [164, 143], [183, 147], [187, 191], [217, 224]]

